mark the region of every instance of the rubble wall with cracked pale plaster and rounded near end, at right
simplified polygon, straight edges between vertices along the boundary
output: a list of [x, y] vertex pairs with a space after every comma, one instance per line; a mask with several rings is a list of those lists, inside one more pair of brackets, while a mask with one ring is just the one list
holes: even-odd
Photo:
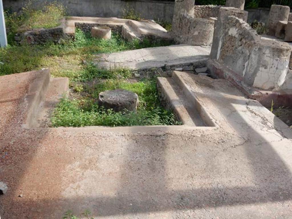
[[281, 90], [288, 73], [289, 45], [262, 40], [246, 22], [228, 16], [228, 13], [219, 16], [218, 23], [222, 31], [215, 33], [219, 34], [216, 36], [219, 42], [217, 49], [212, 47], [212, 58], [247, 85], [263, 90]]

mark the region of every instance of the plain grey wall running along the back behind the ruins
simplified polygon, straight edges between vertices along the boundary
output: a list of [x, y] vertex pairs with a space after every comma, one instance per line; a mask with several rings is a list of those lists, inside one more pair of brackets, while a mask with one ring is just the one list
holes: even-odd
[[[54, 0], [39, 0], [38, 3]], [[3, 0], [4, 9], [19, 11], [25, 0]], [[171, 1], [151, 1], [151, 0], [59, 0], [68, 9], [71, 16], [88, 17], [122, 17], [123, 9], [127, 4], [146, 19], [160, 19], [168, 22], [172, 21], [174, 2]], [[269, 9], [249, 9], [248, 23], [258, 20], [267, 22]]]

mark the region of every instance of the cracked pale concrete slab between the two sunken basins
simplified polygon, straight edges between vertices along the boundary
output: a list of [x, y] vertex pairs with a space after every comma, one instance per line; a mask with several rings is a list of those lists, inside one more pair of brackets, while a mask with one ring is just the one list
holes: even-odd
[[209, 54], [209, 46], [182, 44], [96, 55], [95, 64], [101, 68], [149, 69], [203, 61]]

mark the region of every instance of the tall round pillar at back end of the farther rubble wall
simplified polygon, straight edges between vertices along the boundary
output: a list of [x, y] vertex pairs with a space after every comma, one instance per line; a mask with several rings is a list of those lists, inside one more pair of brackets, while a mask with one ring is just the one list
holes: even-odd
[[175, 0], [173, 20], [172, 20], [172, 31], [174, 34], [178, 32], [179, 14], [185, 13], [185, 14], [194, 16], [194, 5], [195, 5], [195, 0]]

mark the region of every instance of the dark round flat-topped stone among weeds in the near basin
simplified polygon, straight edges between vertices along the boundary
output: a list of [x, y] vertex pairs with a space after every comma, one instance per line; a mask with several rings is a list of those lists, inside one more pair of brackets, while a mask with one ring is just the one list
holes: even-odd
[[138, 95], [128, 90], [107, 90], [99, 94], [98, 105], [116, 112], [137, 111]]

